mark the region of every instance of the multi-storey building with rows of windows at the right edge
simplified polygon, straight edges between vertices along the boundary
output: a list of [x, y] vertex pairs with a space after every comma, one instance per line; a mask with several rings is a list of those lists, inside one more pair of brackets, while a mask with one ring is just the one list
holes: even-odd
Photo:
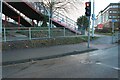
[[[110, 3], [104, 10], [97, 15], [96, 26], [98, 29], [103, 27], [112, 28], [114, 21], [115, 28], [120, 27], [120, 3]], [[103, 25], [102, 27], [99, 25]]]

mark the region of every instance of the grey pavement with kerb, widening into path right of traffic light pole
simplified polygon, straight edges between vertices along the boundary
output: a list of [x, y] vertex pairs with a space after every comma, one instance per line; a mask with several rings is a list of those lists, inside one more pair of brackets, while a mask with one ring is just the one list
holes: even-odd
[[111, 36], [101, 36], [101, 38], [91, 41], [90, 48], [87, 48], [87, 43], [80, 43], [80, 44], [51, 46], [44, 48], [3, 51], [2, 64], [10, 65], [10, 64], [17, 64], [24, 62], [32, 62], [36, 60], [57, 58], [66, 55], [81, 54], [98, 49], [109, 48], [115, 45], [116, 44], [111, 44]]

